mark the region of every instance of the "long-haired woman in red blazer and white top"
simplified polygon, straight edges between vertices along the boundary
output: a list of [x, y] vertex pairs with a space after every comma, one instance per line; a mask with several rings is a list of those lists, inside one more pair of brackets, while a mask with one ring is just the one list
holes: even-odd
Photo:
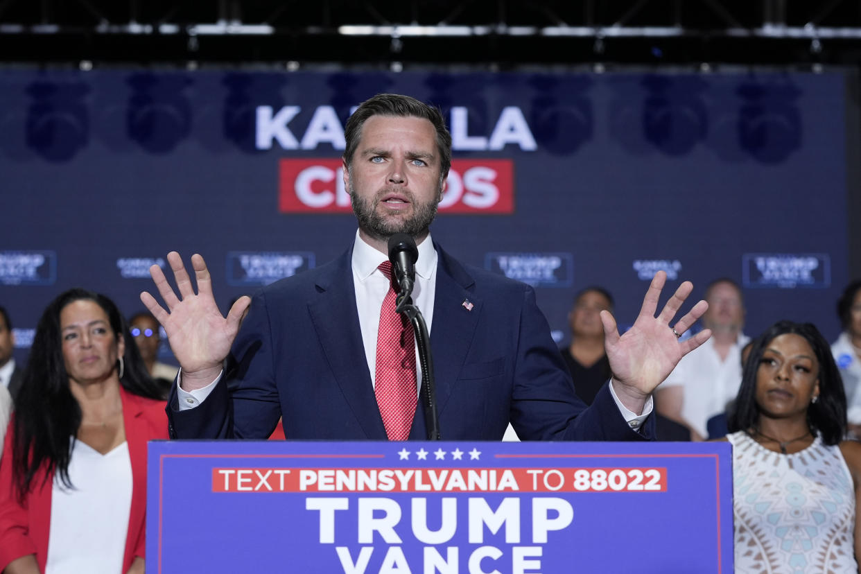
[[158, 396], [110, 299], [71, 289], [47, 306], [0, 460], [0, 569], [144, 571]]

